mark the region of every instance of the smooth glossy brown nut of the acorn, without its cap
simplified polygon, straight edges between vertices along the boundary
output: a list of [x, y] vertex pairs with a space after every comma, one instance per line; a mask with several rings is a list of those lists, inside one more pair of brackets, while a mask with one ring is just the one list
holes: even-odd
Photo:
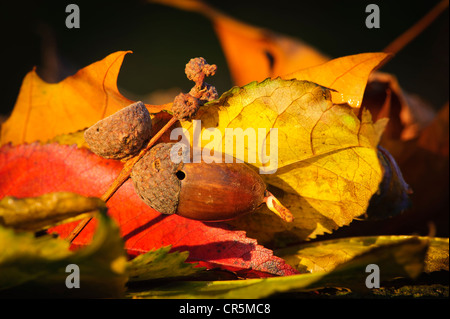
[[236, 218], [257, 209], [266, 185], [244, 163], [186, 163], [177, 214], [203, 221]]

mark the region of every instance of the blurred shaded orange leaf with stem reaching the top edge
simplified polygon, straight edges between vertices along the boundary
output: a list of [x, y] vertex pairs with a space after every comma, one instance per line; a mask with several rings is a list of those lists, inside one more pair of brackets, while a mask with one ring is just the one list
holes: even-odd
[[154, 2], [198, 12], [211, 19], [234, 83], [238, 86], [281, 76], [328, 60], [325, 55], [300, 40], [243, 23], [201, 1]]

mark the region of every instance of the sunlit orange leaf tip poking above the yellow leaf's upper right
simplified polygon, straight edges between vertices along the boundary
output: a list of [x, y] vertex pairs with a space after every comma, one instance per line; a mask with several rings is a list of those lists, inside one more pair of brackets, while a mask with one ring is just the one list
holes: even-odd
[[334, 104], [348, 103], [359, 108], [370, 73], [389, 57], [390, 54], [382, 52], [349, 55], [286, 74], [283, 78], [311, 81], [333, 89]]

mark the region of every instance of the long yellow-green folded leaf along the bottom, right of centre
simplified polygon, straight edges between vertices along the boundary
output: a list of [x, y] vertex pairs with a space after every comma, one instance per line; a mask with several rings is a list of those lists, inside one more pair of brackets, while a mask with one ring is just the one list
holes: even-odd
[[415, 278], [424, 267], [427, 243], [426, 238], [387, 241], [367, 249], [328, 271], [245, 281], [163, 283], [147, 291], [128, 291], [127, 297], [252, 299], [276, 296], [283, 292], [310, 291], [326, 287], [344, 287], [369, 294], [371, 289], [365, 286], [367, 265], [376, 264], [383, 269], [380, 274], [382, 281], [393, 280], [400, 276]]

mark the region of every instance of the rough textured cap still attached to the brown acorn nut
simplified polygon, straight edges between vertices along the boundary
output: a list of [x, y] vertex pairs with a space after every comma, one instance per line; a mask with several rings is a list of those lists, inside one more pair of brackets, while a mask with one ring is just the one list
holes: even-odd
[[134, 189], [141, 199], [162, 214], [174, 214], [178, 207], [181, 183], [176, 173], [183, 162], [174, 163], [170, 151], [174, 143], [155, 145], [134, 165]]

